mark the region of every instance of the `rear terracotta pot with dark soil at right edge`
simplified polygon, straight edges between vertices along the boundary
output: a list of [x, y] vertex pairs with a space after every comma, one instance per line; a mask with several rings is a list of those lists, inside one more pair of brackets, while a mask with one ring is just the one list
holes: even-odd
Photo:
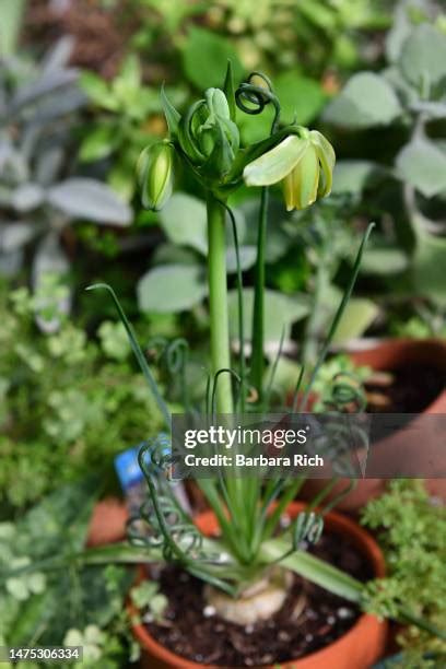
[[[356, 367], [371, 371], [365, 375], [366, 410], [371, 413], [409, 414], [412, 434], [426, 430], [426, 416], [446, 412], [446, 344], [441, 339], [387, 339], [371, 347], [350, 352]], [[410, 415], [412, 414], [412, 415]], [[400, 472], [401, 462], [413, 472], [415, 468], [426, 478], [429, 492], [446, 500], [446, 480], [438, 477], [437, 461], [432, 450], [420, 446], [420, 439], [408, 438], [406, 430], [397, 430], [372, 444], [371, 467], [386, 472], [386, 478], [356, 481], [353, 490], [339, 500], [339, 508], [357, 513], [367, 502], [383, 494], [391, 477]], [[432, 478], [427, 478], [431, 473]], [[304, 496], [312, 497], [327, 485], [332, 500], [349, 482], [340, 479], [334, 485], [329, 480], [307, 481]]]

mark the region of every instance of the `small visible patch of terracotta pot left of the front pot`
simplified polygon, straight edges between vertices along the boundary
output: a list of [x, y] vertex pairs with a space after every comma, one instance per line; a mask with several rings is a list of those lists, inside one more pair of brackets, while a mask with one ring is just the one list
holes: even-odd
[[116, 497], [97, 502], [90, 520], [86, 545], [105, 545], [126, 538], [128, 512], [125, 504]]

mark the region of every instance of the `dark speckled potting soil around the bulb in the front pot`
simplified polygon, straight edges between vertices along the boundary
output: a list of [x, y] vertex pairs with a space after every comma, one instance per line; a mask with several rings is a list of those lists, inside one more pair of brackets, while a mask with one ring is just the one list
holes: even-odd
[[[339, 536], [324, 535], [312, 553], [361, 580], [373, 576], [365, 558]], [[334, 642], [360, 615], [351, 602], [298, 576], [282, 609], [270, 620], [248, 626], [212, 614], [202, 583], [184, 571], [165, 568], [160, 587], [168, 607], [165, 622], [146, 623], [150, 633], [173, 653], [203, 665], [261, 667], [297, 659]], [[306, 597], [303, 610], [302, 592]]]

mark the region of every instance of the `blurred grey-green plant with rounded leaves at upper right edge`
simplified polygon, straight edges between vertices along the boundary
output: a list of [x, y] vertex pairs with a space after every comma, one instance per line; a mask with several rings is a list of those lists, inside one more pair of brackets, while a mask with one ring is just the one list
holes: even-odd
[[368, 202], [382, 219], [363, 273], [438, 306], [446, 298], [445, 20], [435, 3], [402, 0], [386, 40], [388, 67], [354, 74], [325, 113], [327, 122], [356, 131], [362, 151], [360, 160], [339, 161], [334, 191], [357, 197], [362, 212]]

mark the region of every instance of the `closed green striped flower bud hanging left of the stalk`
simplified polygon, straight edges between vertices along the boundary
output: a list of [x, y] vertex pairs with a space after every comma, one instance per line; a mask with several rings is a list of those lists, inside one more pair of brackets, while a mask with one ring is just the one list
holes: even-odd
[[141, 153], [137, 175], [144, 209], [159, 211], [167, 202], [173, 188], [174, 148], [169, 142], [150, 144]]

